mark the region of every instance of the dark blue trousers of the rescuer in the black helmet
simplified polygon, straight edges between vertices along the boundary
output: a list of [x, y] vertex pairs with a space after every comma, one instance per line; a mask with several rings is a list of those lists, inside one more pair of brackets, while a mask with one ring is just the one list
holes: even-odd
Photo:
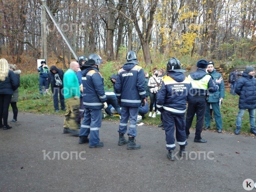
[[175, 138], [174, 138], [174, 127], [176, 127], [176, 140], [179, 146], [186, 146], [188, 143], [186, 141], [185, 132], [185, 115], [175, 115], [169, 111], [163, 110], [163, 127], [165, 129], [166, 135], [166, 149], [174, 150]]

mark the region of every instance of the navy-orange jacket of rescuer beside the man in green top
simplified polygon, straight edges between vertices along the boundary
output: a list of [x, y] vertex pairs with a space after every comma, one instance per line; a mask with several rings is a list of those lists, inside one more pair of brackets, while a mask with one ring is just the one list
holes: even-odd
[[85, 108], [102, 109], [107, 101], [104, 91], [103, 77], [99, 70], [88, 65], [82, 70], [83, 104]]

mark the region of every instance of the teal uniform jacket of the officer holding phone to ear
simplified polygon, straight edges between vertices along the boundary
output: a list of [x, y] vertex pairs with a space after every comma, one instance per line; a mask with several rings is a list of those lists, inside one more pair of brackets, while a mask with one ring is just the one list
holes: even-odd
[[[221, 76], [220, 73], [216, 72], [216, 69], [213, 69], [213, 72], [209, 73], [212, 77], [214, 82], [218, 80]], [[220, 101], [220, 98], [225, 97], [225, 85], [224, 81], [221, 81], [221, 84], [219, 85], [219, 89], [215, 93], [209, 93], [209, 103], [218, 103]]]

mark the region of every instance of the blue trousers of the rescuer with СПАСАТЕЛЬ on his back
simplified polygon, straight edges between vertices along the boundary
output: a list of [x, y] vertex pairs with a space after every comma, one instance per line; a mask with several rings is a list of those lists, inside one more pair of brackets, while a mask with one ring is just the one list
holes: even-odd
[[122, 106], [119, 133], [125, 134], [127, 131], [128, 119], [130, 120], [128, 135], [137, 136], [137, 115], [139, 107]]

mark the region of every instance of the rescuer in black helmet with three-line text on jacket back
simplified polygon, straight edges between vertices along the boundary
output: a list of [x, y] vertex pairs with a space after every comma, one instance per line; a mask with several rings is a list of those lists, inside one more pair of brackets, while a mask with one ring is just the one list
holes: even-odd
[[180, 146], [179, 155], [183, 156], [186, 141], [185, 112], [189, 91], [192, 88], [190, 80], [183, 74], [181, 64], [176, 58], [167, 63], [167, 75], [163, 77], [157, 93], [157, 108], [163, 114], [163, 127], [166, 134], [167, 157], [174, 161], [174, 126], [176, 127], [176, 140]]

